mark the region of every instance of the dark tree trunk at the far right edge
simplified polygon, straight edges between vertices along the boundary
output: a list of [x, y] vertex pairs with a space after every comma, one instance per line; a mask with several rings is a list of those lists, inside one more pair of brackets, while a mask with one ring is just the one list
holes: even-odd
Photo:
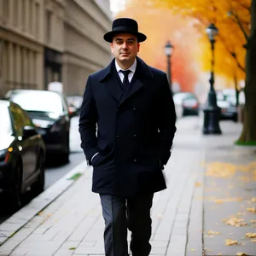
[[252, 0], [251, 16], [251, 37], [246, 45], [246, 105], [243, 130], [238, 140], [238, 143], [245, 144], [256, 144], [256, 0]]

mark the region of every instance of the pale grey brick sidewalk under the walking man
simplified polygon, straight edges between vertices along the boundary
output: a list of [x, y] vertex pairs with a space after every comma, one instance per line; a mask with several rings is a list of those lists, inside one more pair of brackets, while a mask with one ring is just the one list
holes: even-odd
[[[165, 170], [168, 189], [154, 195], [150, 255], [203, 255], [203, 241], [206, 242], [206, 239], [202, 236], [202, 230], [210, 228], [214, 217], [205, 214], [211, 212], [212, 205], [202, 200], [203, 184], [211, 182], [204, 176], [203, 163], [215, 160], [210, 159], [208, 153], [218, 151], [218, 145], [229, 146], [238, 136], [241, 127], [236, 125], [237, 131], [232, 130], [233, 136], [216, 139], [202, 137], [198, 125], [196, 118], [180, 120], [177, 124], [172, 157]], [[229, 125], [224, 127], [227, 132], [229, 129]], [[228, 151], [226, 148], [222, 150]], [[218, 158], [218, 154], [214, 155]], [[249, 196], [251, 195], [247, 195]], [[220, 209], [219, 212], [222, 212], [223, 218], [228, 217], [223, 210]], [[215, 216], [217, 218], [216, 214]], [[91, 192], [89, 170], [40, 215], [32, 218], [32, 221], [4, 243], [0, 247], [0, 256], [104, 255], [103, 228], [100, 200], [98, 195]], [[226, 229], [228, 228], [230, 227], [226, 225]], [[223, 241], [212, 241], [215, 241], [214, 237], [207, 241], [206, 247], [208, 250], [212, 249], [212, 254], [207, 251], [206, 255], [218, 255], [213, 253], [215, 247], [222, 255], [235, 256], [236, 252], [240, 252], [235, 247], [229, 247], [229, 250], [234, 250], [233, 254], [225, 254], [227, 247]], [[248, 243], [241, 252], [255, 248], [252, 255], [256, 255], [254, 245], [253, 242]]]

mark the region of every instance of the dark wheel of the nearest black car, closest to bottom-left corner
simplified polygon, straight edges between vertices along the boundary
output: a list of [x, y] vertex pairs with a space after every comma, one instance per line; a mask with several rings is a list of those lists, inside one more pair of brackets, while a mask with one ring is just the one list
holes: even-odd
[[18, 162], [15, 167], [14, 180], [12, 181], [11, 189], [7, 195], [8, 210], [11, 212], [17, 211], [22, 205], [21, 184], [22, 167], [21, 162]]

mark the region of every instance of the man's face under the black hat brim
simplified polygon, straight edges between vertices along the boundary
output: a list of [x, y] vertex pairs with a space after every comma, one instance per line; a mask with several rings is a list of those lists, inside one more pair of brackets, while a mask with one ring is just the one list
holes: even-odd
[[118, 34], [113, 37], [111, 51], [117, 61], [121, 63], [126, 62], [132, 64], [139, 49], [140, 44], [137, 43], [137, 37], [132, 34]]

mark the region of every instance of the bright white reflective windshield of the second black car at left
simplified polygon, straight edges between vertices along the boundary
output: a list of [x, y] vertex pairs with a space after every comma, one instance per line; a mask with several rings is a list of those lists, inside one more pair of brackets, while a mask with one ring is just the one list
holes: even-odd
[[61, 96], [51, 91], [19, 91], [11, 94], [13, 102], [26, 111], [61, 113]]

